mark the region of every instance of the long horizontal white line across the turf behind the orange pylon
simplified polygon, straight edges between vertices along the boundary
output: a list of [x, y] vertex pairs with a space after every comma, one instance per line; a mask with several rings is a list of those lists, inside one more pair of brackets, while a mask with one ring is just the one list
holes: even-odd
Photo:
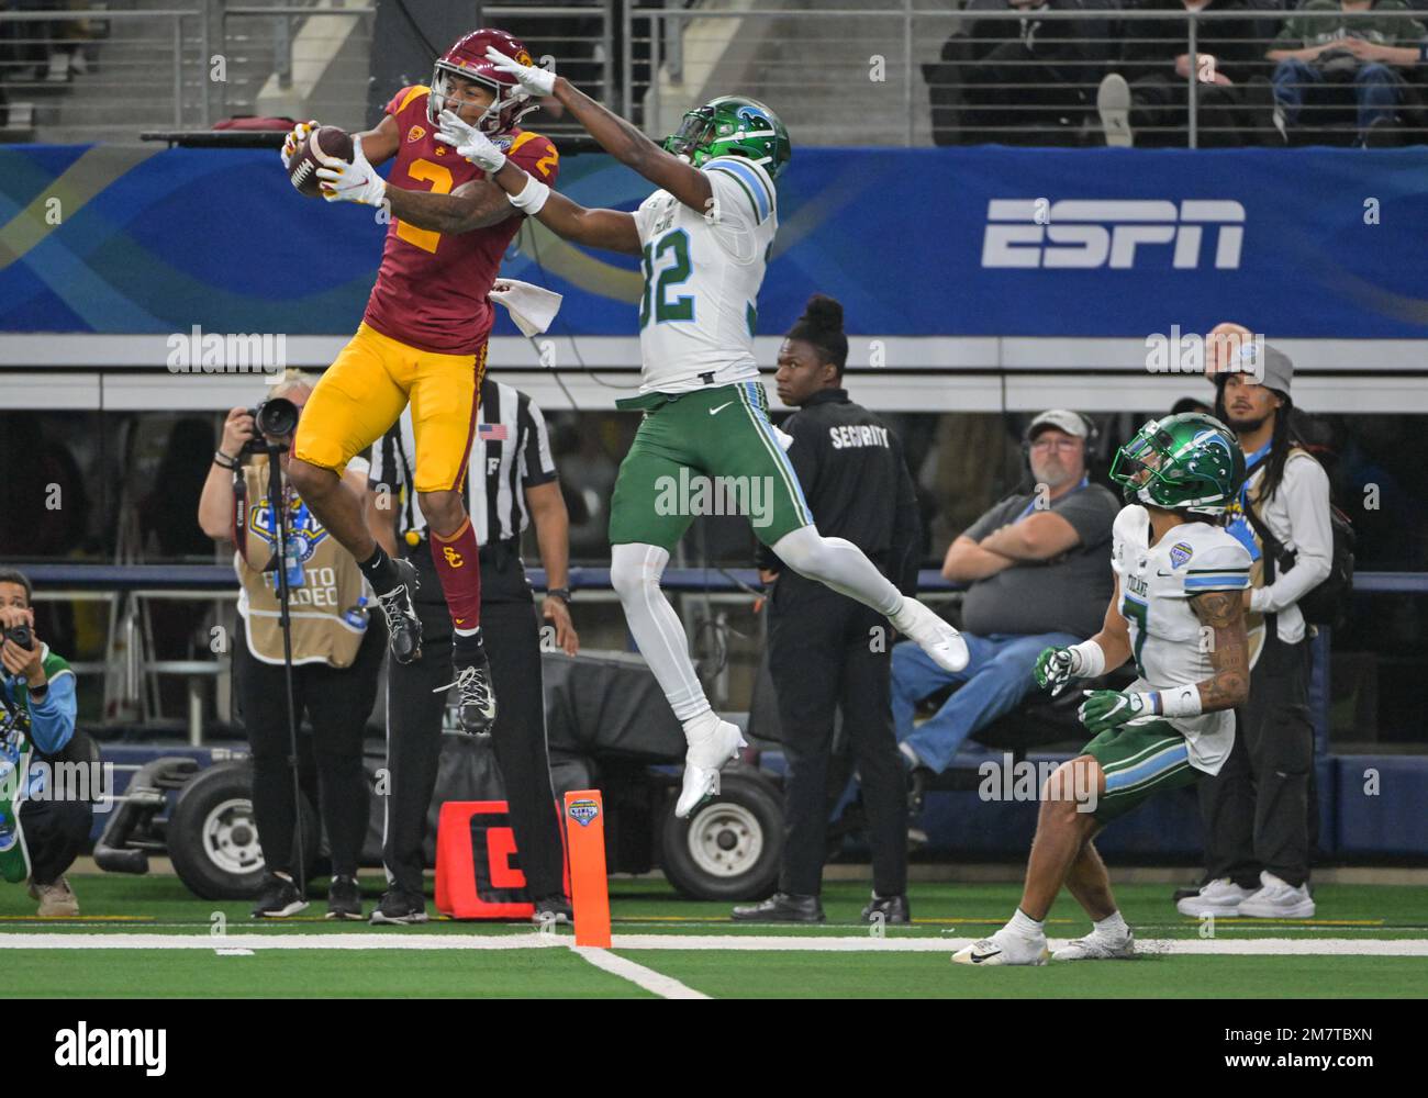
[[[735, 934], [617, 934], [615, 950], [765, 950], [773, 952], [954, 952], [972, 938], [798, 938]], [[1064, 944], [1054, 938], [1052, 948]], [[554, 934], [0, 934], [0, 950], [531, 950], [570, 947], [593, 960], [603, 950], [580, 950]], [[1142, 954], [1235, 957], [1428, 957], [1428, 940], [1385, 938], [1161, 938], [1138, 941]], [[613, 958], [624, 961], [624, 958]], [[637, 965], [638, 967], [638, 965]], [[610, 969], [614, 971], [614, 969]], [[648, 971], [648, 969], [647, 969]], [[624, 975], [623, 972], [620, 975]], [[651, 974], [660, 979], [658, 974]], [[631, 977], [633, 978], [633, 977]], [[638, 982], [638, 981], [635, 981]], [[671, 984], [674, 981], [670, 981]], [[653, 989], [653, 988], [651, 988]]]

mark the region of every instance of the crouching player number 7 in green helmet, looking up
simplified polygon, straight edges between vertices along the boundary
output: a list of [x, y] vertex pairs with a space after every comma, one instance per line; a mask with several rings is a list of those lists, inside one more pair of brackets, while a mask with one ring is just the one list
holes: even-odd
[[[1130, 505], [1112, 527], [1105, 623], [1084, 644], [1042, 651], [1034, 674], [1052, 692], [1127, 660], [1140, 677], [1124, 691], [1085, 691], [1078, 715], [1094, 738], [1042, 790], [1017, 914], [954, 961], [1037, 965], [1048, 955], [1135, 952], [1092, 840], [1147, 797], [1217, 774], [1234, 745], [1234, 707], [1250, 692], [1250, 553], [1218, 523], [1244, 477], [1234, 433], [1198, 413], [1152, 420], [1117, 451], [1111, 478]], [[1044, 924], [1062, 884], [1094, 928], [1048, 954]]]

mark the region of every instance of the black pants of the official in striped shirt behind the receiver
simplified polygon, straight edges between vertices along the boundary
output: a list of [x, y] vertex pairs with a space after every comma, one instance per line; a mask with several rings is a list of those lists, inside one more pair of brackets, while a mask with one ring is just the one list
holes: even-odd
[[[430, 561], [424, 550], [413, 554], [418, 567], [421, 557]], [[430, 575], [423, 570], [421, 588], [441, 590], [434, 568]], [[396, 888], [411, 892], [420, 892], [423, 885], [426, 861], [421, 848], [441, 760], [446, 695], [431, 691], [453, 680], [451, 617], [446, 603], [417, 603], [417, 614], [423, 630], [421, 658], [407, 665], [396, 660], [387, 663], [387, 770], [391, 788], [383, 838], [388, 880]], [[565, 891], [564, 852], [545, 747], [536, 607], [528, 601], [483, 601], [481, 634], [496, 690], [491, 741], [506, 785], [526, 887], [534, 900], [561, 895]]]

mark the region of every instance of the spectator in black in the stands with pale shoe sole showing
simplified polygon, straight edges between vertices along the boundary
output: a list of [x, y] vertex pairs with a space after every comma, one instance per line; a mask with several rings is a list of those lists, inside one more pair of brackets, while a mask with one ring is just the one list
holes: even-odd
[[1131, 10], [1164, 19], [1127, 21], [1117, 71], [1101, 81], [1097, 110], [1108, 146], [1187, 143], [1190, 124], [1188, 20], [1184, 13], [1242, 11], [1244, 19], [1198, 24], [1197, 144], [1254, 144], [1271, 131], [1274, 91], [1262, 73], [1264, 37], [1248, 0], [1142, 0]]

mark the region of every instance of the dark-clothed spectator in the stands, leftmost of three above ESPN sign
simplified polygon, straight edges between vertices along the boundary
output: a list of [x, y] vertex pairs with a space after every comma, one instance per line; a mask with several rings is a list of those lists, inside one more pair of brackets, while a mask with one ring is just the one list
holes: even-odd
[[1070, 133], [1090, 106], [1094, 34], [1081, 20], [1038, 19], [1081, 11], [1082, 0], [1007, 0], [1004, 9], [1021, 19], [977, 19], [967, 36], [971, 57], [942, 73], [961, 86], [967, 141], [1045, 144], [1048, 131]]

